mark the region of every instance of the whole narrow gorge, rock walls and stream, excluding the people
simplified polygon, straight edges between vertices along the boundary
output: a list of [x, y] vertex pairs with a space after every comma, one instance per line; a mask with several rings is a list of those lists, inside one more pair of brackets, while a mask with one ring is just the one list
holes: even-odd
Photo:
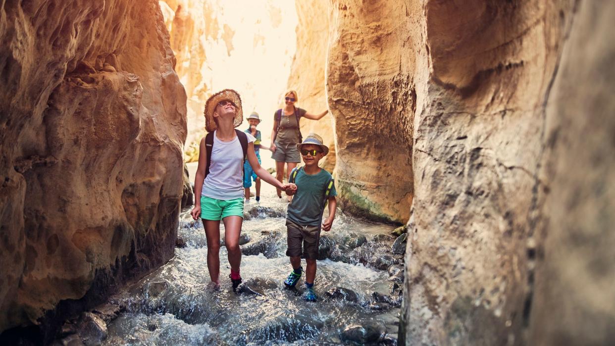
[[[614, 15], [589, 0], [0, 0], [0, 341], [615, 343]], [[301, 120], [339, 194], [322, 305], [280, 285], [286, 203], [268, 189], [244, 210], [252, 292], [205, 288], [185, 167], [226, 87], [264, 143], [287, 90], [329, 110]], [[67, 331], [84, 316], [104, 335]]]

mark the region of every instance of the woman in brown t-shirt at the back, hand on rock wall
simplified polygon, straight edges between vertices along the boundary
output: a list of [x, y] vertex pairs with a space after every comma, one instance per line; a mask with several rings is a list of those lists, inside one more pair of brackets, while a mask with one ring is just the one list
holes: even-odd
[[[311, 120], [320, 120], [327, 115], [328, 110], [320, 114], [310, 114], [303, 108], [295, 107], [298, 101], [297, 92], [288, 90], [284, 95], [285, 106], [278, 109], [274, 114], [273, 130], [271, 132], [271, 158], [276, 160], [276, 179], [282, 181], [284, 178], [284, 163], [287, 164], [287, 172], [297, 167], [301, 162], [301, 155], [295, 144], [301, 143], [301, 131], [299, 130], [299, 119], [304, 117]], [[277, 189], [277, 197], [282, 198], [282, 192]], [[288, 197], [290, 201], [292, 197]]]

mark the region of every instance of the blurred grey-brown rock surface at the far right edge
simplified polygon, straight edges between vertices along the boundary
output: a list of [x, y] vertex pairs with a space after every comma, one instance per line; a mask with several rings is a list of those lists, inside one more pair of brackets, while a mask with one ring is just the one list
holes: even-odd
[[577, 6], [547, 101], [534, 345], [615, 344], [615, 3]]

